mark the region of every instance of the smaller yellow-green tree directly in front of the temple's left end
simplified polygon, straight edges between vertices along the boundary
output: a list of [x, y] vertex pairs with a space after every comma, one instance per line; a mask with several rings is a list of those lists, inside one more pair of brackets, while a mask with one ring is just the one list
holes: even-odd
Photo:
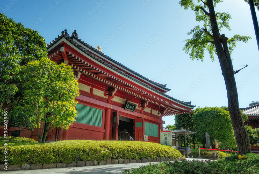
[[48, 131], [68, 129], [75, 121], [78, 83], [70, 66], [57, 65], [48, 58], [28, 62], [22, 73], [24, 111], [37, 127], [39, 143], [43, 143]]

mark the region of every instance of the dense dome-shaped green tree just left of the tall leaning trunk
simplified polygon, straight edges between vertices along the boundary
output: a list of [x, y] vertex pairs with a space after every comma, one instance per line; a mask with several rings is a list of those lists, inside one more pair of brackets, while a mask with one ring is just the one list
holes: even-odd
[[235, 137], [229, 113], [219, 107], [202, 108], [194, 115], [197, 141], [206, 144], [205, 133], [210, 134], [210, 143], [215, 148], [214, 140], [221, 142], [225, 148], [235, 147]]

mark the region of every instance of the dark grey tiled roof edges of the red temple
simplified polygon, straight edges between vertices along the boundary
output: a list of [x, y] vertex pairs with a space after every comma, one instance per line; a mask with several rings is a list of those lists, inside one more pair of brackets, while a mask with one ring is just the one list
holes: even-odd
[[100, 54], [100, 55], [104, 56], [105, 58], [111, 60], [111, 61], [114, 62], [115, 64], [117, 64], [117, 65], [119, 65], [119, 66], [121, 66], [121, 67], [127, 69], [128, 71], [132, 72], [133, 74], [138, 75], [139, 77], [141, 77], [141, 78], [143, 78], [143, 79], [145, 79], [145, 80], [147, 80], [147, 81], [149, 81], [149, 82], [155, 84], [156, 86], [159, 86], [159, 87], [161, 87], [161, 88], [163, 88], [163, 89], [166, 89], [166, 90], [168, 90], [168, 91], [171, 90], [171, 89], [169, 89], [169, 88], [166, 88], [166, 85], [162, 85], [162, 84], [160, 84], [160, 83], [157, 83], [157, 82], [154, 82], [154, 81], [152, 81], [152, 80], [149, 80], [148, 78], [146, 78], [146, 77], [144, 77], [144, 76], [142, 76], [142, 75], [136, 73], [135, 71], [131, 70], [130, 68], [127, 68], [126, 66], [120, 64], [119, 62], [115, 61], [114, 59], [111, 59], [110, 57], [108, 57], [108, 56], [105, 55], [104, 53], [102, 53], [102, 52], [100, 52], [99, 50], [97, 50], [95, 47], [93, 47], [93, 46], [87, 44], [86, 42], [82, 41], [81, 39], [79, 39], [77, 36], [76, 36], [76, 37], [75, 37], [75, 36], [65, 36], [64, 31], [62, 31], [62, 35], [61, 35], [61, 36], [59, 35], [57, 38], [55, 38], [55, 40], [53, 40], [52, 42], [50, 42], [50, 44], [47, 44], [47, 49], [50, 48], [51, 46], [53, 46], [55, 43], [57, 43], [61, 38], [65, 38], [65, 39], [68, 40], [71, 44], [73, 44], [73, 45], [75, 45], [76, 47], [80, 48], [80, 50], [81, 50], [82, 52], [84, 52], [85, 54], [91, 56], [93, 59], [95, 59], [95, 60], [101, 62], [102, 64], [106, 65], [107, 67], [109, 67], [109, 68], [111, 68], [111, 69], [114, 69], [115, 71], [119, 72], [120, 74], [122, 74], [122, 75], [124, 75], [124, 76], [126, 76], [126, 77], [128, 77], [128, 78], [130, 78], [130, 79], [132, 79], [132, 80], [134, 80], [134, 81], [136, 81], [136, 82], [138, 82], [138, 83], [140, 83], [141, 85], [146, 86], [146, 87], [152, 89], [153, 91], [155, 91], [155, 92], [157, 92], [157, 93], [159, 93], [159, 94], [161, 94], [161, 95], [163, 95], [163, 96], [166, 96], [167, 98], [172, 99], [172, 100], [174, 100], [174, 101], [176, 101], [176, 102], [178, 102], [178, 103], [181, 103], [181, 104], [183, 104], [183, 105], [185, 105], [185, 106], [189, 106], [189, 107], [195, 107], [195, 106], [196, 106], [196, 105], [191, 105], [191, 102], [184, 102], [184, 101], [181, 101], [181, 100], [177, 100], [177, 99], [175, 99], [175, 98], [173, 98], [173, 97], [171, 97], [171, 96], [169, 96], [169, 95], [167, 95], [167, 94], [164, 94], [163, 92], [159, 91], [158, 89], [156, 89], [156, 88], [154, 88], [154, 87], [152, 87], [152, 86], [149, 86], [148, 84], [146, 84], [146, 83], [144, 83], [144, 82], [142, 82], [142, 81], [140, 81], [140, 80], [134, 78], [133, 76], [131, 76], [131, 75], [129, 75], [129, 74], [127, 74], [127, 73], [121, 71], [120, 69], [118, 69], [118, 68], [116, 68], [116, 67], [110, 65], [109, 63], [105, 62], [104, 60], [100, 59], [99, 57], [93, 55], [91, 52], [89, 52], [89, 51], [87, 51], [86, 49], [84, 49], [83, 46], [81, 46], [80, 44], [78, 44], [76, 41], [79, 41], [82, 45], [87, 46], [87, 47], [90, 48], [92, 51], [97, 52], [98, 54]]

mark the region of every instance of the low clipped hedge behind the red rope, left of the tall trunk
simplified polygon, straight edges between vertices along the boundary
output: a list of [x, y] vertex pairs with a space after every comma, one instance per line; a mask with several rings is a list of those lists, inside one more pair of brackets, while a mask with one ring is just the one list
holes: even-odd
[[[200, 149], [200, 156], [199, 156], [199, 149], [192, 149], [192, 156], [197, 158], [214, 158], [215, 157], [215, 150], [205, 150], [205, 149]], [[219, 158], [226, 158], [226, 152], [224, 151], [219, 151], [218, 153]], [[233, 154], [227, 152], [227, 157], [231, 157]], [[191, 154], [189, 154], [191, 156]]]

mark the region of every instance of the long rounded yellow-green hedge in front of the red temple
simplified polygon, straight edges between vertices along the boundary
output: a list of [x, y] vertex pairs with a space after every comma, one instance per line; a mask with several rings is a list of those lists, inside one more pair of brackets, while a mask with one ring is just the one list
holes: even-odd
[[[4, 159], [4, 147], [0, 148], [0, 159]], [[153, 159], [160, 157], [182, 157], [178, 150], [169, 146], [139, 141], [91, 141], [65, 140], [46, 144], [17, 145], [8, 147], [9, 164], [72, 163], [112, 159]]]

